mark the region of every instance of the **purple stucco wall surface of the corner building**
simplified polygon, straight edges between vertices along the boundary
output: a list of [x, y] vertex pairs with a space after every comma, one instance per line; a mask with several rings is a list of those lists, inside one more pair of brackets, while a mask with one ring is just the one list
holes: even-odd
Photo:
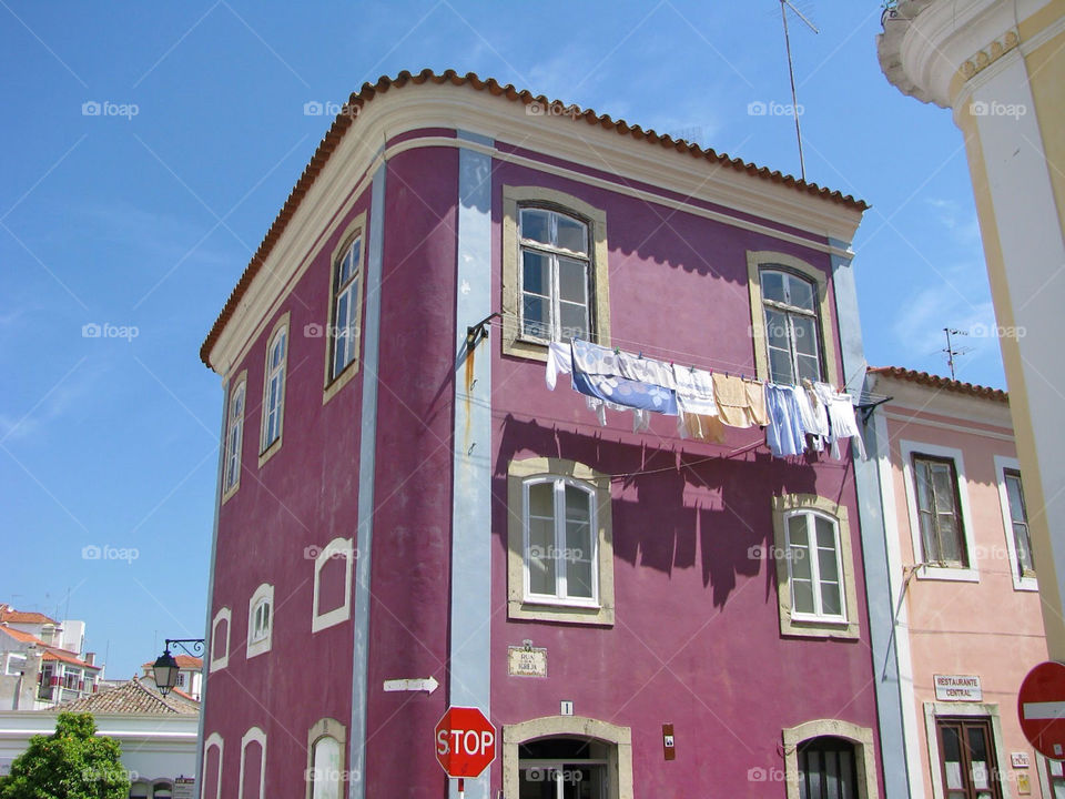
[[[505, 184], [549, 186], [606, 212], [611, 337], [648, 355], [752, 375], [747, 252], [793, 254], [830, 274], [824, 253], [497, 161], [497, 310]], [[416, 148], [388, 161], [367, 677], [369, 797], [442, 797], [446, 790], [432, 730], [448, 695], [457, 195], [456, 149]], [[363, 211], [368, 230], [368, 192], [347, 219]], [[342, 220], [322, 236], [311, 267], [278, 311], [292, 314], [284, 442], [262, 468], [256, 456], [265, 338], [274, 320], [231, 373], [247, 370], [245, 471], [220, 514], [212, 609], [229, 606], [233, 625], [230, 665], [210, 678], [204, 727], [205, 736], [225, 739], [224, 797], [237, 793], [240, 741], [250, 727], [267, 734], [266, 795], [302, 796], [307, 729], [323, 717], [351, 720], [352, 623], [311, 633], [313, 560], [304, 558], [310, 545], [356, 535], [363, 375], [323, 405], [325, 340], [303, 335], [305, 325], [327, 318], [328, 261], [346, 224]], [[782, 797], [780, 782], [748, 780], [751, 768], [783, 768], [782, 728], [842, 718], [875, 729], [852, 464], [774, 461], [764, 446], [729, 456], [763, 441], [757, 431], [731, 431], [727, 444], [716, 446], [681, 441], [672, 418], [656, 418], [640, 435], [630, 432], [627, 416], [613, 415], [599, 427], [565, 381], [555, 393], [546, 388], [542, 363], [503, 355], [500, 337], [494, 328], [478, 350], [493, 358], [496, 725], [556, 715], [568, 699], [578, 716], [630, 727], [637, 797], [691, 796], [699, 786], [714, 796]], [[579, 461], [612, 475], [649, 472], [612, 483], [612, 627], [507, 618], [507, 466], [531, 456]], [[781, 637], [775, 574], [764, 548], [773, 542], [771, 499], [783, 493], [819, 494], [848, 508], [859, 640]], [[761, 559], [749, 554], [755, 546], [763, 547]], [[247, 601], [264, 581], [275, 586], [273, 646], [245, 659]], [[508, 676], [507, 646], [526, 638], [547, 647], [548, 677]], [[442, 682], [432, 696], [381, 690], [386, 679], [428, 675]], [[662, 724], [676, 728], [674, 761], [662, 758]], [[498, 760], [490, 780], [495, 796], [503, 785]]]

